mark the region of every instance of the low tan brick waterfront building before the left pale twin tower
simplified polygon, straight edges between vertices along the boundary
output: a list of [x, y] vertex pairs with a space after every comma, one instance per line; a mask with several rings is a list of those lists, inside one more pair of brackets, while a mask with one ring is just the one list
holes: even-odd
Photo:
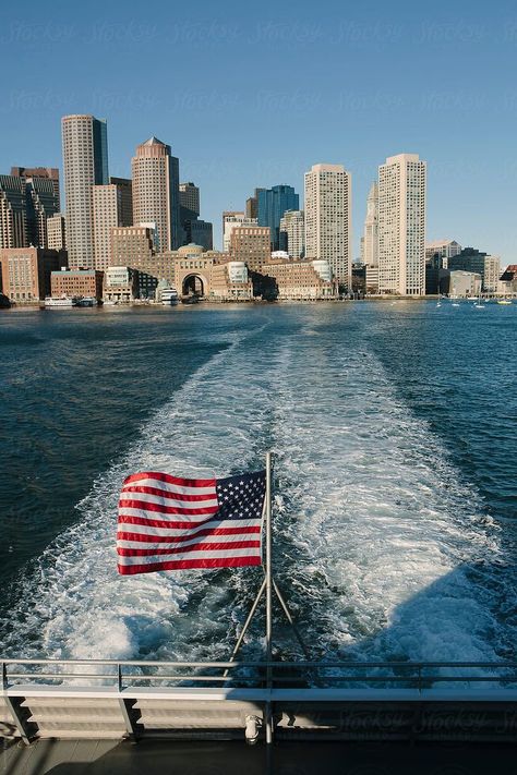
[[337, 281], [326, 259], [272, 258], [262, 274], [275, 280], [279, 300], [335, 299], [338, 294]]

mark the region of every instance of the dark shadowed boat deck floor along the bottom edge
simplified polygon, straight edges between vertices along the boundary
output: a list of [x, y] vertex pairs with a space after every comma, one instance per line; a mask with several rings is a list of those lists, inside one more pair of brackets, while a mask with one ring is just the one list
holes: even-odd
[[[324, 763], [324, 765], [322, 764]], [[0, 772], [9, 775], [513, 775], [515, 748], [488, 743], [37, 740], [8, 743]]]

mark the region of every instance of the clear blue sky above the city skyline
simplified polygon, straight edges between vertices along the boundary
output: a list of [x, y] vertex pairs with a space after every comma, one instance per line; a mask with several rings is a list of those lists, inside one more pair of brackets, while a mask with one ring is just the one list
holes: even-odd
[[517, 3], [2, 3], [0, 172], [61, 167], [60, 117], [108, 120], [110, 173], [155, 134], [202, 217], [312, 164], [353, 175], [356, 254], [386, 156], [429, 164], [428, 239], [517, 263]]

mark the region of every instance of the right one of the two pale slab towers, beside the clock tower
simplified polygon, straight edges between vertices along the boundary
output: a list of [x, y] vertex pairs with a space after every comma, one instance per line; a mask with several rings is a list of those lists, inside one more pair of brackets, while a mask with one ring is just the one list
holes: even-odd
[[425, 177], [418, 154], [390, 156], [378, 168], [381, 293], [425, 293]]

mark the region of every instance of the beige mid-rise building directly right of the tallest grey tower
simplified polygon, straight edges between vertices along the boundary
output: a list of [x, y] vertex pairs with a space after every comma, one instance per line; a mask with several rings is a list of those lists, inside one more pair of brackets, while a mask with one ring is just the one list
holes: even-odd
[[131, 180], [110, 178], [92, 187], [94, 219], [94, 266], [105, 271], [111, 265], [111, 230], [133, 223]]

